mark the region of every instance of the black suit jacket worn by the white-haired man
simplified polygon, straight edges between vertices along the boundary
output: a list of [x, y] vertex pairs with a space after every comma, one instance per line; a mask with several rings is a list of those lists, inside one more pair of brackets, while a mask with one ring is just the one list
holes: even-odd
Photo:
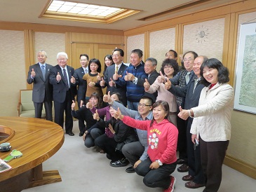
[[[58, 75], [58, 72], [60, 73], [60, 76], [61, 76], [61, 80], [59, 82], [56, 81], [56, 76]], [[74, 100], [74, 97], [76, 95], [76, 87], [72, 86], [71, 85], [72, 83], [70, 83], [70, 78], [74, 74], [74, 68], [69, 67], [67, 65], [67, 72], [69, 74], [68, 81], [70, 84], [72, 100]], [[49, 81], [50, 81], [50, 84], [53, 85], [53, 101], [59, 102], [59, 103], [65, 102], [67, 90], [66, 90], [66, 85], [64, 82], [64, 76], [62, 74], [62, 69], [60, 68], [60, 66], [58, 64], [55, 65], [55, 67], [50, 68]]]

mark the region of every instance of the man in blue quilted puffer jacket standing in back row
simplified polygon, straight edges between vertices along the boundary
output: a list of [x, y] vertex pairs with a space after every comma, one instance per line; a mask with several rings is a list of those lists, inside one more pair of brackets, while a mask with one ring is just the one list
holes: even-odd
[[137, 85], [139, 78], [147, 78], [144, 71], [144, 62], [142, 61], [142, 50], [132, 50], [130, 54], [130, 66], [126, 68], [125, 76], [118, 76], [114, 74], [113, 79], [116, 85], [126, 85], [126, 97], [129, 109], [137, 110], [137, 104], [140, 102], [140, 97], [144, 95], [143, 83]]

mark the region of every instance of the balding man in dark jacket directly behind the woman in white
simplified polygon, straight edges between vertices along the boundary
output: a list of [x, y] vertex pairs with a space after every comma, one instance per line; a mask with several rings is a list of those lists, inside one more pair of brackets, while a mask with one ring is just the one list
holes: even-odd
[[[166, 89], [173, 93], [173, 95], [185, 97], [184, 109], [191, 109], [192, 107], [198, 106], [201, 90], [205, 87], [205, 85], [200, 83], [200, 67], [206, 60], [208, 60], [208, 58], [204, 56], [196, 57], [193, 64], [193, 71], [196, 76], [194, 76], [194, 79], [192, 79], [184, 88], [173, 86], [170, 81], [166, 82]], [[185, 184], [187, 188], [198, 188], [205, 185], [205, 177], [203, 175], [203, 168], [201, 165], [200, 146], [194, 146], [191, 141], [190, 128], [192, 122], [193, 118], [189, 117], [187, 119], [187, 157], [189, 174], [182, 177], [182, 180], [188, 181]]]

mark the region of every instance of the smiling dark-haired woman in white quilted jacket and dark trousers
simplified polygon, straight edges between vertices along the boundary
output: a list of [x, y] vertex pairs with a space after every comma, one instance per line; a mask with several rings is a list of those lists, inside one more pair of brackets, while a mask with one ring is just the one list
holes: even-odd
[[234, 90], [229, 82], [229, 71], [217, 59], [201, 65], [201, 83], [210, 83], [203, 88], [198, 107], [180, 109], [180, 118], [194, 117], [191, 139], [200, 143], [201, 162], [206, 176], [203, 192], [215, 192], [222, 181], [222, 164], [231, 137], [231, 111]]

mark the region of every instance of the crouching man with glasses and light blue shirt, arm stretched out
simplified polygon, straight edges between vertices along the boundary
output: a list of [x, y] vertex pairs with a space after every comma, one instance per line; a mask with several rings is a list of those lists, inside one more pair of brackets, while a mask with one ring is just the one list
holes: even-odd
[[[137, 111], [127, 109], [122, 104], [115, 102], [110, 97], [110, 94], [104, 95], [103, 101], [112, 104], [112, 107], [114, 107], [114, 109], [119, 108], [123, 115], [130, 116], [137, 120], [145, 121], [153, 118], [153, 114], [151, 111], [153, 103], [150, 97], [144, 96], [140, 98], [140, 102], [137, 106]], [[126, 156], [130, 164], [132, 165], [126, 169], [126, 172], [128, 173], [135, 172], [135, 167], [137, 167], [137, 165], [139, 165], [143, 160], [146, 160], [148, 157], [147, 130], [136, 129], [136, 131], [137, 136], [139, 137], [139, 141], [125, 144], [122, 149], [123, 155]], [[114, 165], [112, 166], [120, 167], [119, 165], [121, 163], [122, 162], [114, 162]]]

